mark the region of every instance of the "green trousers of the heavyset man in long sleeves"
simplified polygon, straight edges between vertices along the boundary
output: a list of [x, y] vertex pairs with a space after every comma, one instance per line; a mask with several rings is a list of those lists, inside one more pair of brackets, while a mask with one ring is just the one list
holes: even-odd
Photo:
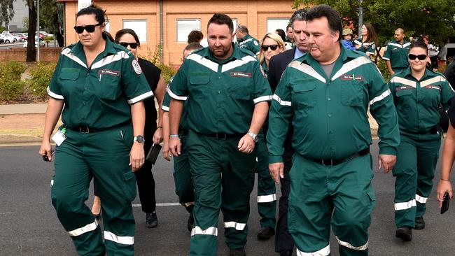
[[330, 225], [339, 255], [368, 255], [371, 155], [323, 166], [295, 153], [289, 177], [288, 225], [297, 255], [330, 255]]

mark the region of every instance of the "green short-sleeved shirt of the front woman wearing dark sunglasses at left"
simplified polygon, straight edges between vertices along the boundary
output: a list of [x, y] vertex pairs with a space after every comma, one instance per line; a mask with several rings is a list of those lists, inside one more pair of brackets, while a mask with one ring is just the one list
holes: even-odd
[[129, 104], [153, 96], [134, 55], [106, 40], [106, 49], [87, 67], [83, 45], [62, 50], [48, 94], [64, 100], [62, 121], [69, 127], [103, 129], [131, 120]]

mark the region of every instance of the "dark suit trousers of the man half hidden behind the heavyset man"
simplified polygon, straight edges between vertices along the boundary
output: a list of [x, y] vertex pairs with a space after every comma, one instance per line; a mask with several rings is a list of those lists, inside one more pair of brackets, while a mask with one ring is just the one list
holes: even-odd
[[292, 148], [291, 139], [293, 132], [290, 132], [284, 142], [284, 178], [280, 178], [281, 197], [278, 205], [278, 220], [276, 221], [275, 252], [283, 250], [294, 250], [294, 241], [288, 229], [288, 197], [290, 192], [289, 171], [293, 166], [293, 155], [295, 150]]

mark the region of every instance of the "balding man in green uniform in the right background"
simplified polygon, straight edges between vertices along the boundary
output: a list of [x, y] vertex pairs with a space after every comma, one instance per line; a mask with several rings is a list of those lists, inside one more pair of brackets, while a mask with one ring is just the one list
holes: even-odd
[[403, 29], [396, 29], [393, 37], [395, 40], [387, 44], [386, 51], [382, 57], [386, 61], [387, 69], [391, 76], [404, 71], [409, 66], [407, 53], [409, 52], [409, 45], [411, 45], [405, 40], [405, 31]]

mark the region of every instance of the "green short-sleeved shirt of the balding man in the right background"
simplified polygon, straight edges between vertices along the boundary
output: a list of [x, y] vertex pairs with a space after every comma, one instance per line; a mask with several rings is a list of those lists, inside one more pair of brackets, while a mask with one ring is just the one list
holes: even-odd
[[407, 54], [409, 53], [409, 46], [411, 43], [403, 41], [403, 44], [392, 40], [386, 46], [386, 51], [382, 59], [389, 60], [392, 69], [405, 69], [409, 66], [407, 62]]

